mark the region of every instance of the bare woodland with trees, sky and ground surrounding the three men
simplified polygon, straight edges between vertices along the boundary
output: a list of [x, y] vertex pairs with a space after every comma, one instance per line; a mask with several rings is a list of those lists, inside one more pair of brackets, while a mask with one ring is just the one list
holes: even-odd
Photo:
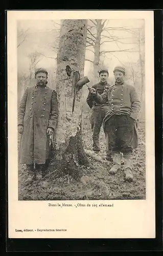
[[[91, 152], [88, 89], [75, 87], [83, 76], [88, 77], [89, 87], [98, 82], [101, 68], [108, 69], [108, 82], [113, 84], [112, 71], [118, 65], [126, 68], [127, 82], [136, 88], [142, 103], [132, 183], [123, 181], [123, 172], [109, 176], [112, 163], [105, 160], [103, 128], [101, 151]], [[36, 68], [42, 67], [49, 73], [48, 85], [57, 92], [59, 110], [48, 174], [39, 184], [26, 186], [26, 166], [19, 164], [19, 200], [145, 199], [144, 20], [19, 20], [17, 67], [17, 103], [35, 83]], [[18, 149], [19, 141], [18, 135]]]

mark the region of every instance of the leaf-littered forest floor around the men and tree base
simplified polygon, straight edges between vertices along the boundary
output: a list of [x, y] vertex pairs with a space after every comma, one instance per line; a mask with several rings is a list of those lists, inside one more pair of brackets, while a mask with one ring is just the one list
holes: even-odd
[[[89, 113], [88, 109], [83, 113], [82, 140], [84, 148], [91, 151]], [[89, 166], [80, 167], [83, 173], [82, 182], [56, 170], [52, 162], [48, 169], [48, 175], [44, 179], [34, 182], [32, 185], [25, 185], [26, 165], [18, 164], [18, 200], [146, 199], [145, 122], [139, 123], [138, 138], [139, 145], [133, 153], [133, 182], [124, 181], [123, 165], [116, 175], [109, 175], [108, 170], [112, 163], [105, 161], [105, 136], [103, 128], [101, 128], [101, 151], [98, 155], [104, 161], [99, 162], [88, 157]]]

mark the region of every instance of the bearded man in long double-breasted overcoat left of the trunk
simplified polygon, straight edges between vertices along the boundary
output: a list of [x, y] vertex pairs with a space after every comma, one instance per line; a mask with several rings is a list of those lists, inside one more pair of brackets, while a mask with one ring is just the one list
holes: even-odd
[[50, 136], [57, 124], [57, 94], [46, 85], [47, 79], [48, 72], [37, 69], [36, 83], [26, 89], [18, 108], [20, 163], [27, 165], [27, 182], [44, 174], [49, 162]]

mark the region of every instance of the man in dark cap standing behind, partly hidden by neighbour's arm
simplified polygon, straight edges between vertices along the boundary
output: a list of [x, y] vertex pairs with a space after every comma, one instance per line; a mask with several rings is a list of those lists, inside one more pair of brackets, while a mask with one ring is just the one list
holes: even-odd
[[[99, 94], [102, 94], [104, 90], [110, 88], [110, 84], [107, 82], [108, 80], [108, 70], [101, 69], [99, 72], [99, 82], [94, 84], [92, 88], [95, 88]], [[101, 125], [103, 123], [103, 119], [108, 112], [109, 103], [108, 101], [101, 103], [97, 103], [93, 98], [91, 93], [89, 92], [88, 97], [86, 99], [87, 104], [89, 105], [90, 111], [90, 124], [92, 130], [92, 147], [94, 152], [100, 151], [100, 142], [99, 142], [99, 134], [101, 130]], [[105, 133], [105, 130], [104, 130]], [[108, 135], [105, 133], [106, 139], [106, 159], [111, 160], [111, 154], [108, 147]]]

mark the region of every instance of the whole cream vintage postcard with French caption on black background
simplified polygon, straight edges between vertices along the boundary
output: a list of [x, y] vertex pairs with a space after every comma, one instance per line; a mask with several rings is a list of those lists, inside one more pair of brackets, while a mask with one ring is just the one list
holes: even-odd
[[8, 11], [9, 238], [155, 238], [153, 11]]

